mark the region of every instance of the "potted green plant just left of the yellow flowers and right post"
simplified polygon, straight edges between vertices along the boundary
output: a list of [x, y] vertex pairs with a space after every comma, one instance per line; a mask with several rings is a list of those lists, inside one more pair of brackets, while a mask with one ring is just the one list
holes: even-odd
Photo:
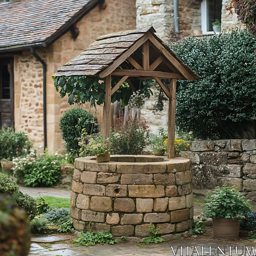
[[164, 152], [167, 150], [164, 141], [168, 137], [167, 131], [163, 127], [159, 127], [156, 130], [156, 134], [151, 136], [151, 147], [154, 150], [155, 156], [163, 156]]

